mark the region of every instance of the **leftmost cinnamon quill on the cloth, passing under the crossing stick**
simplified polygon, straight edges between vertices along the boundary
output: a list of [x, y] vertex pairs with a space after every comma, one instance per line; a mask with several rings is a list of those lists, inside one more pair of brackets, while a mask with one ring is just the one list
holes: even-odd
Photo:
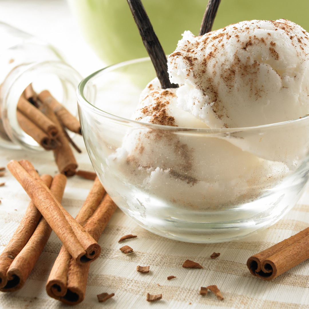
[[[49, 187], [53, 179], [52, 176], [44, 174], [41, 178], [46, 186]], [[0, 255], [0, 290], [7, 284], [6, 273], [8, 268], [32, 236], [40, 218], [40, 211], [30, 201], [23, 219]]]

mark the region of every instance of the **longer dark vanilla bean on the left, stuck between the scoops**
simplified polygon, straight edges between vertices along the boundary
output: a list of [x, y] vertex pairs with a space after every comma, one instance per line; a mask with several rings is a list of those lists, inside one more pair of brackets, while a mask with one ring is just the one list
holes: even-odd
[[144, 46], [149, 54], [149, 57], [155, 67], [155, 71], [162, 89], [177, 88], [177, 84], [172, 84], [167, 73], [167, 59], [158, 37], [150, 23], [148, 15], [141, 0], [127, 0], [133, 18], [138, 27], [138, 31], [142, 37]]

